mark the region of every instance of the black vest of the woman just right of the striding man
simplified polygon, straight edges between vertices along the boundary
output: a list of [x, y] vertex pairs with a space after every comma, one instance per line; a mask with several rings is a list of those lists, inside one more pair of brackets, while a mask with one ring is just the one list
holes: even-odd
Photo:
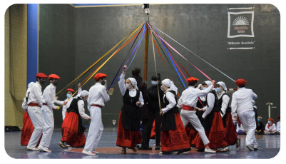
[[[213, 110], [205, 118], [205, 121], [203, 121], [203, 128], [205, 128], [205, 131], [207, 131], [207, 132], [209, 132], [210, 128], [212, 128], [214, 113], [220, 111], [220, 108], [218, 108], [217, 93], [215, 93], [215, 91], [213, 91], [213, 90], [210, 91], [210, 93], [213, 93], [213, 95], [215, 96], [215, 103], [213, 105]], [[208, 96], [207, 96], [207, 100], [208, 100]], [[207, 101], [207, 106], [208, 106], [208, 101]]]

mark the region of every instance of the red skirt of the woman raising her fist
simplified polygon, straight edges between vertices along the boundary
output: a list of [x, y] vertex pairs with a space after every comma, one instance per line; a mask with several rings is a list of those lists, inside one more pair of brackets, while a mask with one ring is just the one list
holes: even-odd
[[120, 147], [126, 147], [133, 149], [138, 143], [142, 143], [142, 136], [139, 131], [129, 131], [125, 130], [121, 121], [121, 114], [118, 118], [118, 130], [117, 130], [117, 140], [116, 145]]

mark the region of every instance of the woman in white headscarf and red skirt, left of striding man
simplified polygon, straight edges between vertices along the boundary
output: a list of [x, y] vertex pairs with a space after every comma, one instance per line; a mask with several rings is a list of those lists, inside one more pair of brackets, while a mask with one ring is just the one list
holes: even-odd
[[161, 150], [163, 154], [170, 154], [178, 151], [177, 154], [190, 150], [188, 135], [180, 119], [177, 107], [176, 94], [178, 88], [168, 78], [162, 81], [161, 90], [165, 93], [163, 97], [163, 108], [160, 114], [163, 115], [161, 126]]

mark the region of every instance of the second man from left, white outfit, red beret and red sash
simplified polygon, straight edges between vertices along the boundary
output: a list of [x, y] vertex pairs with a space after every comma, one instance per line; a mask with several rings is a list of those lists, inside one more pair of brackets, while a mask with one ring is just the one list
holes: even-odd
[[48, 146], [51, 143], [54, 125], [53, 109], [58, 110], [60, 108], [59, 106], [55, 106], [53, 103], [65, 105], [66, 102], [56, 100], [56, 86], [58, 85], [58, 79], [60, 79], [60, 77], [56, 74], [51, 74], [48, 76], [48, 79], [50, 80], [50, 85], [45, 88], [43, 98], [41, 99], [41, 102], [43, 103], [43, 106], [41, 106], [41, 114], [43, 116], [44, 130], [41, 143], [38, 148], [39, 150], [49, 153], [51, 150], [48, 149]]

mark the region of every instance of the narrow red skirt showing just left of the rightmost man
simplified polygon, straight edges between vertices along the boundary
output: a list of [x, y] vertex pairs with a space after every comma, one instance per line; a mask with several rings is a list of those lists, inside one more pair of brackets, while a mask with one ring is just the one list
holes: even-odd
[[228, 145], [235, 145], [238, 140], [238, 133], [236, 133], [235, 124], [233, 123], [233, 117], [230, 113], [225, 113], [226, 118], [226, 127], [225, 127], [225, 138]]

